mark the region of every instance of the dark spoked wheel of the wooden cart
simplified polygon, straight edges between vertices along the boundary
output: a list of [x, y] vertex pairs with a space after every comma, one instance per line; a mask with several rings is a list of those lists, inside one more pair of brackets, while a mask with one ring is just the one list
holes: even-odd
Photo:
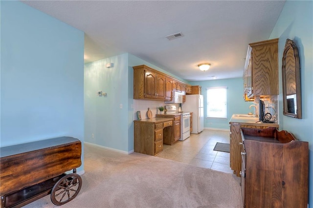
[[82, 178], [76, 173], [62, 177], [51, 190], [51, 201], [55, 205], [64, 205], [74, 199], [82, 187]]

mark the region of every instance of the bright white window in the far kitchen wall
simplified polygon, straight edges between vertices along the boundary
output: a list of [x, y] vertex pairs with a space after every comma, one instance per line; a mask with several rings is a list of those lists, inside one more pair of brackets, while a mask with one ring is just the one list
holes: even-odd
[[206, 117], [227, 118], [227, 87], [206, 88]]

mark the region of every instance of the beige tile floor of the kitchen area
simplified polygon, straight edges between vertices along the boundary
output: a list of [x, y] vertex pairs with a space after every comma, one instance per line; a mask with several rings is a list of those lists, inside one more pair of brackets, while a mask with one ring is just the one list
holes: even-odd
[[172, 146], [164, 145], [157, 157], [233, 173], [229, 167], [229, 153], [213, 150], [217, 142], [229, 144], [229, 131], [204, 129], [200, 134], [191, 134]]

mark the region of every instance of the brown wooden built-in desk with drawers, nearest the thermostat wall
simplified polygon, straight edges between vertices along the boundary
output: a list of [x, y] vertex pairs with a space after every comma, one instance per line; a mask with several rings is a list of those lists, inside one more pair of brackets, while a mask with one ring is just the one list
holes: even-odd
[[163, 150], [163, 140], [173, 137], [173, 119], [152, 118], [134, 121], [134, 151], [157, 155]]

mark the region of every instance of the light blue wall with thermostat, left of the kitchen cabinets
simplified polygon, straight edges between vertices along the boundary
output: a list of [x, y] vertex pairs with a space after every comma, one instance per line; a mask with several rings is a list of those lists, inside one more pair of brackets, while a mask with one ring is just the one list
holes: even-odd
[[[107, 68], [110, 62], [113, 67]], [[133, 114], [129, 119], [133, 104], [129, 87], [133, 81], [129, 83], [128, 54], [86, 63], [84, 74], [85, 141], [128, 153], [134, 149], [134, 139], [128, 141], [133, 132]], [[97, 91], [107, 95], [98, 96]]]

